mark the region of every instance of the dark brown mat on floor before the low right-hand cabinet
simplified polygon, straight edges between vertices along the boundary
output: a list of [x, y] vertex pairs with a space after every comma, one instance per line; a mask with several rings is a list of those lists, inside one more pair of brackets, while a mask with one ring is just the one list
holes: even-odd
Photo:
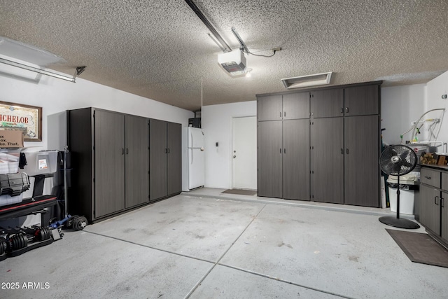
[[414, 263], [448, 267], [448, 250], [428, 234], [386, 230]]

